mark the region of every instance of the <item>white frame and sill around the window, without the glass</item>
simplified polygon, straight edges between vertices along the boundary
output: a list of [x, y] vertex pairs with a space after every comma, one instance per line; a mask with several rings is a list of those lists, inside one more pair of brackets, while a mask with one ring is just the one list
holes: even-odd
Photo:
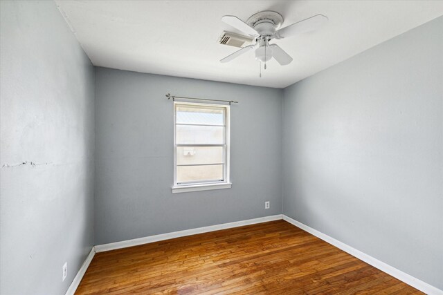
[[[225, 129], [224, 129], [224, 149], [225, 160], [224, 160], [224, 180], [215, 182], [192, 182], [189, 184], [179, 184], [177, 183], [177, 105], [188, 105], [188, 106], [210, 106], [216, 108], [225, 108]], [[199, 144], [192, 144], [199, 145]], [[217, 146], [219, 146], [217, 144]], [[172, 193], [185, 193], [189, 191], [208, 191], [212, 189], [230, 189], [231, 183], [229, 178], [230, 170], [230, 106], [226, 104], [201, 104], [196, 102], [174, 102], [174, 184], [172, 185]]]

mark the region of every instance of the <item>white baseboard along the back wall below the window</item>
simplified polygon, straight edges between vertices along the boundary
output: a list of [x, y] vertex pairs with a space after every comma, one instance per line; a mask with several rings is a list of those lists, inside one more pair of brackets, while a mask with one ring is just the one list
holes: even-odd
[[122, 249], [126, 247], [138, 246], [150, 242], [158, 242], [160, 240], [169, 240], [171, 238], [180, 238], [182, 236], [192, 236], [195, 234], [203, 234], [209, 231], [219, 231], [220, 229], [231, 229], [233, 227], [242, 227], [244, 225], [255, 225], [272, 220], [280, 220], [283, 216], [281, 214], [273, 216], [265, 216], [260, 218], [223, 223], [221, 225], [210, 225], [209, 227], [199, 227], [197, 229], [186, 229], [184, 231], [174, 231], [168, 234], [159, 234], [155, 236], [147, 236], [144, 238], [134, 238], [133, 240], [123, 240], [121, 242], [111, 242], [109, 244], [97, 245], [96, 252], [110, 251], [115, 249]]

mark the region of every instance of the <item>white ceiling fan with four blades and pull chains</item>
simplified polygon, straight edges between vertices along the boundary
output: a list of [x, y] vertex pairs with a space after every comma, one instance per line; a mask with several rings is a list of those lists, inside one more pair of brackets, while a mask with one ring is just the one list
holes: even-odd
[[246, 23], [233, 15], [225, 15], [221, 17], [221, 21], [248, 35], [255, 41], [255, 44], [237, 50], [235, 53], [221, 59], [220, 62], [226, 63], [255, 48], [255, 59], [264, 62], [264, 68], [266, 69], [266, 61], [269, 61], [272, 57], [282, 66], [292, 61], [292, 57], [280, 46], [269, 44], [271, 39], [293, 37], [304, 32], [314, 31], [327, 21], [327, 17], [314, 15], [314, 17], [309, 17], [281, 29], [278, 28], [283, 22], [283, 17], [275, 11], [255, 13], [255, 15], [249, 17]]

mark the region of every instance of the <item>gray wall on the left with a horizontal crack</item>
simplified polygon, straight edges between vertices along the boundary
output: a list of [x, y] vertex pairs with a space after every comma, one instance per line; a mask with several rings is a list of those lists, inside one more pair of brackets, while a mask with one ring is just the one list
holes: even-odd
[[93, 246], [94, 69], [53, 1], [0, 11], [0, 293], [64, 294]]

